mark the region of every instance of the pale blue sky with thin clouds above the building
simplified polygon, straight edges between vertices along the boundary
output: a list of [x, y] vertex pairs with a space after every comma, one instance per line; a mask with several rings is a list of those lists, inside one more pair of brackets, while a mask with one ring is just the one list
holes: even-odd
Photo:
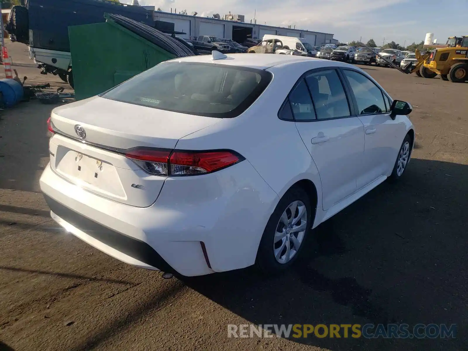
[[[121, 0], [131, 3], [131, 0]], [[193, 11], [198, 16], [245, 15], [257, 24], [333, 33], [340, 42], [374, 39], [381, 46], [395, 41], [400, 45], [420, 43], [426, 33], [434, 33], [438, 43], [447, 37], [468, 35], [468, 0], [139, 0], [140, 5]]]

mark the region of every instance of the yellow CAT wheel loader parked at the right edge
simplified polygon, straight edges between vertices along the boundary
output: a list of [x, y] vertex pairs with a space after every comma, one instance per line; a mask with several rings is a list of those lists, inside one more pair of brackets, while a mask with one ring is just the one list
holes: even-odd
[[[468, 80], [468, 36], [461, 37], [461, 44], [434, 49], [428, 58], [418, 59], [419, 74], [424, 78], [434, 78], [440, 74], [442, 80], [463, 83]], [[460, 45], [460, 46], [458, 46]], [[416, 73], [417, 74], [417, 73]]]

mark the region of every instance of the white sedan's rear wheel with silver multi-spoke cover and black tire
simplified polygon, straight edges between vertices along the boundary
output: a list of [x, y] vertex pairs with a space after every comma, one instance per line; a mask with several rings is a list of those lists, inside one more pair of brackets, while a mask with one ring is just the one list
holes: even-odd
[[263, 231], [256, 267], [266, 275], [286, 271], [297, 260], [312, 228], [312, 206], [307, 192], [292, 187], [279, 200]]

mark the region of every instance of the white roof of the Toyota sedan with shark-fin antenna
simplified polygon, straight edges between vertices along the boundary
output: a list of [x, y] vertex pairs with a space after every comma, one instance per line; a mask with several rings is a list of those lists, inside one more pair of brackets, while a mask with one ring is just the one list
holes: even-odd
[[[295, 62], [316, 61], [317, 66], [323, 66], [322, 59], [314, 59], [311, 57], [296, 56], [296, 55], [277, 55], [277, 54], [226, 54], [226, 59], [212, 60], [212, 55], [197, 55], [188, 56], [171, 61], [177, 62], [200, 62], [200, 63], [216, 63], [229, 66], [243, 66], [257, 69], [267, 69], [278, 65], [291, 65]], [[319, 65], [320, 64], [320, 65]]]

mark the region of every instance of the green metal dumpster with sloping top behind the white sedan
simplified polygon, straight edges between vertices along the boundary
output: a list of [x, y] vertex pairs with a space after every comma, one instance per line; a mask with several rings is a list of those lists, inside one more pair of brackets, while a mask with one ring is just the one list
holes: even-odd
[[108, 19], [68, 27], [76, 100], [100, 94], [176, 56]]

